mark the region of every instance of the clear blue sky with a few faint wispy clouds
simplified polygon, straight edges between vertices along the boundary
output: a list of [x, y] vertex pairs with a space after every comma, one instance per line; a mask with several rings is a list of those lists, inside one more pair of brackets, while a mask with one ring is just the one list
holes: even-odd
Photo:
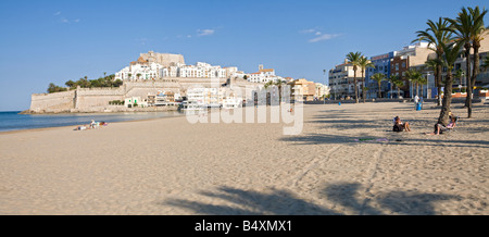
[[[48, 85], [114, 74], [140, 53], [326, 83], [348, 52], [411, 43], [427, 20], [463, 0], [17, 0], [0, 1], [0, 111], [22, 111]], [[487, 20], [486, 20], [487, 22]]]

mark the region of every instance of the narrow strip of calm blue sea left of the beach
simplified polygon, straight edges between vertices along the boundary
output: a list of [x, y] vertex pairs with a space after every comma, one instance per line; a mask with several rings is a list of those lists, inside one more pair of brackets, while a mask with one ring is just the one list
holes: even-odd
[[22, 130], [45, 127], [62, 127], [89, 124], [96, 122], [123, 122], [168, 116], [180, 116], [179, 112], [149, 112], [149, 113], [113, 113], [113, 114], [18, 114], [15, 112], [0, 112], [0, 132]]

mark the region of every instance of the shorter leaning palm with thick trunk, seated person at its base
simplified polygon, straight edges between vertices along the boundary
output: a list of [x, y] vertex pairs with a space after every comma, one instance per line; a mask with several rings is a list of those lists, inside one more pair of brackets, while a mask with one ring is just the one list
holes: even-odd
[[441, 112], [440, 116], [438, 117], [438, 123], [441, 123], [443, 125], [448, 124], [449, 114], [450, 114], [450, 105], [452, 103], [452, 70], [454, 67], [455, 61], [460, 55], [460, 50], [463, 45], [460, 43], [450, 43], [450, 45], [442, 45], [444, 54], [442, 57], [442, 63], [444, 66], [447, 66], [448, 72], [446, 79], [444, 79], [444, 95], [443, 95], [443, 101], [441, 105]]

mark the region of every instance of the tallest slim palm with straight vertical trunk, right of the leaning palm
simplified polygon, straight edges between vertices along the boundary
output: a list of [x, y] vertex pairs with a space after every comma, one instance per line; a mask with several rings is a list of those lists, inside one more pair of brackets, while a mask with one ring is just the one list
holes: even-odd
[[[462, 12], [454, 20], [446, 18], [451, 23], [447, 30], [455, 34], [455, 42], [463, 45], [465, 52], [465, 76], [467, 77], [467, 98], [465, 107], [467, 107], [468, 117], [472, 117], [472, 77], [471, 77], [471, 48], [474, 33], [474, 20], [469, 10], [462, 8]], [[451, 73], [449, 73], [451, 74]]]

